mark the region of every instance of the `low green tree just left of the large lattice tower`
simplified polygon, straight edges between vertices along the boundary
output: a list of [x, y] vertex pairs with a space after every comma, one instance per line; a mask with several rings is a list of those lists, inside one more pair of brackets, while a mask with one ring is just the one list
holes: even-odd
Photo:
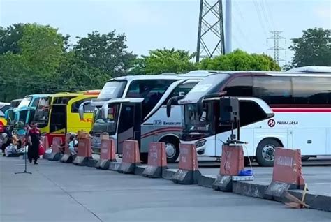
[[184, 50], [151, 50], [148, 56], [137, 59], [130, 73], [135, 75], [154, 75], [160, 73], [186, 73], [196, 69], [191, 61], [195, 53]]

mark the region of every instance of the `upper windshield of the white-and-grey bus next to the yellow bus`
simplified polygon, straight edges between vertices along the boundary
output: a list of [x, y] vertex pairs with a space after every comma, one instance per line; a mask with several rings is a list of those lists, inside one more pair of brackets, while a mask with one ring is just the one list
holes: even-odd
[[112, 80], [106, 82], [98, 99], [119, 98], [123, 96], [126, 80]]

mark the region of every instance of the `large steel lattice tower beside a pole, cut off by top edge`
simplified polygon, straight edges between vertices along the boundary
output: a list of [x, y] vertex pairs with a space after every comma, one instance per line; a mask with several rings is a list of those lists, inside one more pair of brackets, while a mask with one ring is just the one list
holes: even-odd
[[196, 61], [224, 54], [222, 0], [200, 0], [196, 52]]

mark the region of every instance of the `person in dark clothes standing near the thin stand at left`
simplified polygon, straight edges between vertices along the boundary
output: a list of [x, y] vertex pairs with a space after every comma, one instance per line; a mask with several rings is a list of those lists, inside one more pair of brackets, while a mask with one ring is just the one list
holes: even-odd
[[40, 138], [41, 138], [41, 131], [37, 127], [37, 124], [32, 122], [31, 128], [28, 133], [28, 142], [29, 142], [29, 149], [28, 149], [28, 158], [30, 163], [32, 163], [32, 159], [34, 159], [34, 164], [38, 164], [38, 151], [40, 145]]

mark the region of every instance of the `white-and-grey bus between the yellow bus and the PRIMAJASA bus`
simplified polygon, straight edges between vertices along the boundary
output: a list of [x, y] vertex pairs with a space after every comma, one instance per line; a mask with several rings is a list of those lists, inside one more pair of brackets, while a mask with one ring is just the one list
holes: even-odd
[[[179, 133], [182, 118], [179, 105], [172, 106], [175, 113], [165, 115], [166, 103], [173, 96], [188, 93], [207, 71], [180, 75], [133, 75], [117, 77], [105, 83], [98, 98], [91, 101], [96, 107], [91, 129], [92, 149], [100, 151], [101, 133], [109, 133], [122, 154], [124, 140], [140, 142], [140, 158], [147, 161], [149, 142], [165, 142], [168, 162], [179, 156]], [[80, 112], [85, 104], [80, 107]]]

